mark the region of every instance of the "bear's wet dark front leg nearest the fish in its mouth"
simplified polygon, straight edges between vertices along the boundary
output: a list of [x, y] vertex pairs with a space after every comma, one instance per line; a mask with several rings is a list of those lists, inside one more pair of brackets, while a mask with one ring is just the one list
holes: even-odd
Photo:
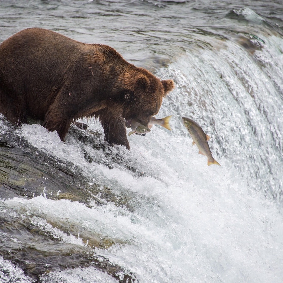
[[125, 119], [119, 117], [118, 119], [102, 120], [101, 124], [104, 129], [104, 140], [111, 145], [119, 144], [124, 145], [130, 150], [130, 145], [127, 139], [127, 132], [125, 127]]

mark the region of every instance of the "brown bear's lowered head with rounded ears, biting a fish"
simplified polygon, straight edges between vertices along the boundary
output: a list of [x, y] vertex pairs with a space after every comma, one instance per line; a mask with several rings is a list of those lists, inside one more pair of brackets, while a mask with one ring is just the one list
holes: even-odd
[[160, 80], [146, 69], [137, 69], [124, 74], [120, 81], [123, 87], [122, 116], [126, 120], [126, 127], [130, 127], [133, 118], [147, 126], [158, 113], [163, 97], [174, 88], [173, 80]]

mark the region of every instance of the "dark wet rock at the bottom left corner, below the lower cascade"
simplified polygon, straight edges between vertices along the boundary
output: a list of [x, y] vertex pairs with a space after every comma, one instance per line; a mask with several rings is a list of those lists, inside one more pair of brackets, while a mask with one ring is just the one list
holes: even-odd
[[0, 255], [35, 282], [52, 271], [90, 266], [117, 282], [138, 282], [130, 271], [99, 256], [92, 248], [62, 242], [59, 237], [33, 225], [29, 217], [16, 216], [4, 203], [0, 205], [0, 233]]

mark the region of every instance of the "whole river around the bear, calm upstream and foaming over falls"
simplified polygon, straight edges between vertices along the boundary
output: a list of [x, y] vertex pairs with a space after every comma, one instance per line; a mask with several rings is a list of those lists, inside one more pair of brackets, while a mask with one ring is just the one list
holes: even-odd
[[283, 2], [0, 1], [0, 42], [28, 27], [173, 79], [173, 130], [128, 151], [0, 116], [0, 282], [283, 282]]

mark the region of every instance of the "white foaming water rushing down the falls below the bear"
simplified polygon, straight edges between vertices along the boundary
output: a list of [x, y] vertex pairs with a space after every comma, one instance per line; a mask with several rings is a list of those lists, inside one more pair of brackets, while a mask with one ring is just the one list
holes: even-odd
[[[84, 149], [95, 162], [87, 162], [81, 142], [71, 135], [63, 143], [40, 125], [17, 130], [38, 151], [76, 164], [82, 178], [117, 195], [128, 192], [132, 211], [112, 202], [55, 201], [43, 191], [32, 199], [4, 200], [13, 209], [7, 210], [9, 216], [30, 218], [63, 243], [85, 246], [80, 235], [68, 235], [56, 224], [113, 239], [114, 245], [97, 253], [134, 273], [140, 283], [282, 282], [283, 39], [264, 29], [257, 36], [258, 46], [264, 44], [252, 51], [253, 57], [240, 39], [211, 37], [207, 48], [176, 54], [175, 61], [158, 70], [159, 77], [176, 83], [158, 114], [173, 115], [173, 130], [154, 126], [145, 137], [128, 137], [130, 151], [113, 149], [144, 174], [123, 164], [109, 169], [101, 162], [103, 151], [90, 146]], [[192, 147], [182, 116], [211, 137], [221, 167], [208, 167], [207, 158]], [[102, 132], [98, 122], [83, 122]], [[52, 193], [60, 194], [57, 188]], [[11, 282], [32, 282], [3, 258], [0, 267], [18, 278]], [[0, 272], [0, 282], [6, 282], [4, 275]], [[88, 267], [47, 273], [40, 282], [116, 280]]]

